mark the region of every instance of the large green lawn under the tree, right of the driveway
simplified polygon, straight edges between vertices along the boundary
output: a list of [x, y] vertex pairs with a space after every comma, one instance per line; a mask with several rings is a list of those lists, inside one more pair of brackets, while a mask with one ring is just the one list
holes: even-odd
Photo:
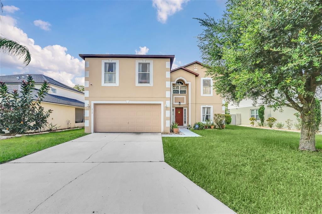
[[[322, 213], [322, 152], [299, 133], [227, 126], [163, 138], [165, 161], [237, 213]], [[322, 149], [322, 136], [316, 136]]]

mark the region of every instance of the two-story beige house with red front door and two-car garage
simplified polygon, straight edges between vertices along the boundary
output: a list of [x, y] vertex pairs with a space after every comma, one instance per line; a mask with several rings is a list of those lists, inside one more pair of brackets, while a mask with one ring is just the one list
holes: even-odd
[[[212, 79], [174, 55], [80, 54], [85, 60], [85, 132], [170, 132], [224, 113]], [[171, 71], [170, 71], [171, 70]]]

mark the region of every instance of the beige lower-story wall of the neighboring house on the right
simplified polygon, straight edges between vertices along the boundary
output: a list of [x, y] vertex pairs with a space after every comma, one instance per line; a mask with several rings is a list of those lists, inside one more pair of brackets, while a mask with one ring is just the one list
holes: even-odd
[[[321, 101], [320, 101], [321, 103]], [[251, 110], [252, 109], [259, 109], [259, 106], [253, 106], [253, 107], [244, 107], [244, 108], [237, 108], [237, 109], [230, 109], [231, 114], [241, 114], [241, 123], [242, 125], [250, 125], [249, 118], [251, 117]], [[284, 128], [286, 127], [286, 120], [290, 119], [293, 120], [293, 124], [296, 123], [296, 117], [294, 116], [294, 113], [298, 112], [294, 110], [293, 108], [284, 106], [283, 111], [280, 112], [279, 110], [274, 111], [274, 109], [270, 106], [265, 106], [265, 122], [269, 117], [274, 117], [277, 121], [275, 122], [273, 127], [276, 127], [277, 122], [283, 122]], [[259, 121], [259, 120], [258, 120]], [[255, 125], [257, 125], [257, 122], [255, 122]], [[293, 125], [292, 129], [295, 129], [295, 126]], [[321, 129], [321, 127], [320, 127]]]

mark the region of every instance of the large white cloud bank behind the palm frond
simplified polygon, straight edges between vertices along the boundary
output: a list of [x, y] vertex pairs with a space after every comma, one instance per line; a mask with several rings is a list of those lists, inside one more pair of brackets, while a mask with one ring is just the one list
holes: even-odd
[[44, 74], [66, 85], [73, 86], [72, 79], [80, 83], [78, 77], [84, 75], [84, 60], [67, 54], [67, 48], [60, 45], [41, 47], [28, 38], [23, 30], [16, 27], [16, 20], [10, 16], [3, 16], [0, 22], [3, 37], [18, 41], [26, 46], [31, 53], [31, 62], [24, 67], [23, 60], [0, 52], [1, 67], [16, 69], [15, 73]]

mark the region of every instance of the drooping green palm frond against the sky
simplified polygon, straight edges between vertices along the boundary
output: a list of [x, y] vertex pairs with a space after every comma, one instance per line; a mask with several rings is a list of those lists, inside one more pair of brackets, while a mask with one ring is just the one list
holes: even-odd
[[0, 37], [0, 51], [16, 56], [19, 59], [24, 58], [24, 64], [26, 66], [31, 61], [31, 54], [26, 46], [4, 37]]

